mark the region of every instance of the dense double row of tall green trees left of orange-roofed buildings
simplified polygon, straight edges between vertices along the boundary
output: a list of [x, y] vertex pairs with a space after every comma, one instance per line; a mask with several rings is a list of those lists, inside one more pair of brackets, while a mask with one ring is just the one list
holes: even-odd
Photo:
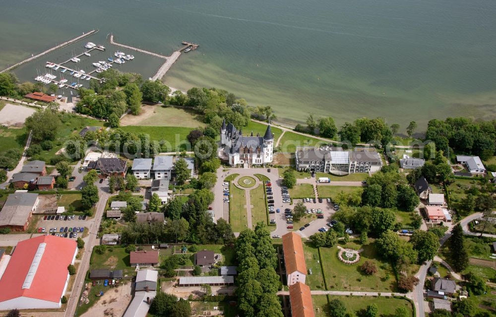
[[236, 241], [238, 259], [238, 307], [245, 317], [282, 317], [277, 298], [280, 287], [275, 271], [277, 256], [270, 231], [263, 222], [255, 230], [246, 229]]

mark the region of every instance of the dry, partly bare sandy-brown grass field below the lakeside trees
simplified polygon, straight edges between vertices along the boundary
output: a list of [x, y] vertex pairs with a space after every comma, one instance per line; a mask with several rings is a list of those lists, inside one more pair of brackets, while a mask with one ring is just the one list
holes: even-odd
[[[123, 122], [129, 119], [131, 126], [146, 127], [204, 127], [201, 117], [189, 109], [163, 106], [146, 106], [153, 111], [153, 115], [140, 120], [139, 116], [126, 115]], [[147, 109], [148, 111], [148, 109]], [[127, 118], [129, 116], [129, 118]]]

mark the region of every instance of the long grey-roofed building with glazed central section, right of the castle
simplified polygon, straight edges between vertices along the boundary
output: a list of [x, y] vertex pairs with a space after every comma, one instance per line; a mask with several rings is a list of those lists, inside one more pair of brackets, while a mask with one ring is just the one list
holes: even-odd
[[382, 167], [379, 153], [369, 148], [343, 151], [341, 148], [297, 148], [295, 153], [298, 171], [320, 173], [369, 173]]

